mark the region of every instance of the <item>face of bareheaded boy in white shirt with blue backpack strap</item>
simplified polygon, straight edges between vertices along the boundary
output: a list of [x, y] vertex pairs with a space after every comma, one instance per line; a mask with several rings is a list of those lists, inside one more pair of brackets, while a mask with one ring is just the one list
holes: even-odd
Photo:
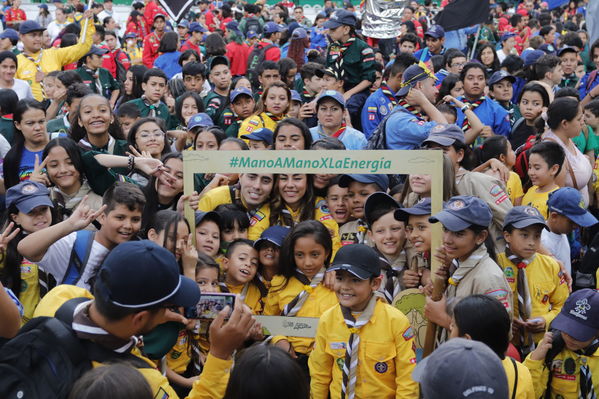
[[98, 220], [102, 224], [102, 235], [116, 246], [137, 235], [141, 228], [141, 209], [131, 210], [123, 204], [116, 204], [110, 212], [103, 212]]

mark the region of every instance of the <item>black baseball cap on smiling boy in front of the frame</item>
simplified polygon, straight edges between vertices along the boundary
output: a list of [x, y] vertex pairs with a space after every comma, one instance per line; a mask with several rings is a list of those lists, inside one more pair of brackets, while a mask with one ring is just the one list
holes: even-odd
[[381, 275], [381, 260], [368, 245], [349, 244], [337, 251], [329, 270], [347, 270], [359, 279], [366, 280]]

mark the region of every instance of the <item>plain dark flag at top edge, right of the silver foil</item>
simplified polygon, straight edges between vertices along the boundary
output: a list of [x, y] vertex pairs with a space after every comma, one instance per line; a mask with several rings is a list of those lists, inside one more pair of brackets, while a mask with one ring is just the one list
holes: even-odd
[[446, 32], [486, 22], [489, 0], [454, 0], [435, 17], [435, 23]]

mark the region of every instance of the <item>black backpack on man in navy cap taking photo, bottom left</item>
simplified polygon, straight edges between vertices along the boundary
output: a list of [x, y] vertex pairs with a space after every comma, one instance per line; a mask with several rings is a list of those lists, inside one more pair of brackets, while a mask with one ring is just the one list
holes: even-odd
[[119, 354], [73, 333], [73, 312], [89, 298], [73, 298], [56, 317], [36, 317], [0, 352], [0, 392], [5, 399], [66, 399], [73, 384], [92, 362], [127, 361], [137, 368], [150, 368], [143, 359]]

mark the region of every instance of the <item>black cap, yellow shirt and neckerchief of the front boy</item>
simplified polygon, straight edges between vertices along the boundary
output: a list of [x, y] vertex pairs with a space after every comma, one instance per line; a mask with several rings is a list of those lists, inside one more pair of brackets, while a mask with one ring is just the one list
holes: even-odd
[[[377, 254], [362, 244], [343, 247], [330, 270], [346, 270], [361, 280], [381, 273]], [[418, 384], [411, 377], [416, 365], [413, 338], [408, 318], [374, 293], [359, 314], [333, 306], [320, 316], [310, 355], [312, 397], [339, 398], [342, 392], [356, 398], [418, 397]], [[348, 373], [356, 376], [353, 384]]]

